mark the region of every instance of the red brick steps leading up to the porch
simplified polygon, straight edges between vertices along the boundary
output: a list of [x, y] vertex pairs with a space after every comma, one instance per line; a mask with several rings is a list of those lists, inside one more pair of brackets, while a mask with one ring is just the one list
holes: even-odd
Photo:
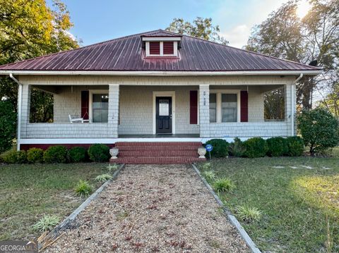
[[192, 163], [198, 158], [201, 142], [117, 142], [118, 159], [114, 163]]

